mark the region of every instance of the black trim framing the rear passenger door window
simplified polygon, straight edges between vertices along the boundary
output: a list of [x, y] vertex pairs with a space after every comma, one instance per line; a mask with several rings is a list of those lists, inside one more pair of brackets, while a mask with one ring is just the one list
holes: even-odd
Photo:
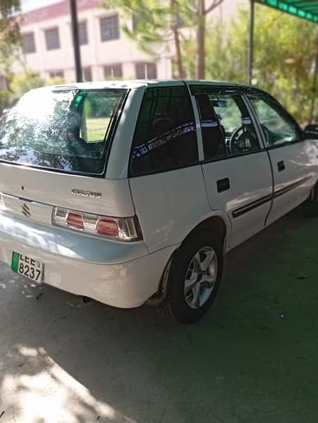
[[[263, 142], [262, 139], [262, 133], [259, 131], [259, 123], [257, 121], [257, 119], [255, 118], [254, 115], [252, 115], [251, 111], [250, 111], [250, 103], [248, 102], [246, 104], [245, 101], [245, 96], [243, 94], [243, 91], [241, 89], [241, 87], [239, 85], [203, 85], [203, 84], [190, 84], [188, 85], [189, 90], [191, 92], [191, 95], [193, 97], [195, 97], [197, 94], [207, 94], [207, 92], [209, 94], [236, 94], [239, 95], [240, 98], [243, 101], [243, 104], [245, 105], [245, 108], [247, 110], [247, 113], [250, 117], [250, 120], [252, 121], [252, 125], [255, 129], [255, 134], [257, 136], [257, 140], [259, 142], [259, 149], [251, 151], [251, 152], [245, 152], [245, 153], [238, 153], [238, 154], [231, 154], [231, 156], [219, 156], [219, 157], [212, 157], [210, 159], [203, 159], [200, 161], [200, 164], [206, 164], [206, 163], [212, 163], [215, 161], [222, 161], [222, 160], [230, 160], [230, 159], [236, 159], [237, 157], [242, 157], [242, 156], [248, 156], [250, 154], [258, 154], [261, 152], [265, 152], [266, 148], [265, 148], [265, 144]], [[198, 92], [195, 92], [195, 87], [200, 87], [202, 89], [199, 90]], [[195, 102], [195, 107], [197, 109], [197, 114], [198, 116], [200, 116], [200, 111], [197, 107], [197, 103]], [[199, 117], [199, 128], [197, 128], [197, 130], [201, 130], [201, 122], [200, 122], [200, 117]], [[202, 138], [202, 136], [201, 136]], [[203, 143], [203, 140], [202, 140]], [[203, 147], [203, 146], [202, 146]], [[203, 155], [204, 155], [204, 149], [203, 149]]]

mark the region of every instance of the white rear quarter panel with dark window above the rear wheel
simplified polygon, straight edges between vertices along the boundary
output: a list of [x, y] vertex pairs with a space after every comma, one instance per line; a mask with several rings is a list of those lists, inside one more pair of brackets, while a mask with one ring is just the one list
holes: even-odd
[[129, 183], [149, 252], [178, 245], [211, 214], [183, 83], [147, 87], [130, 152]]

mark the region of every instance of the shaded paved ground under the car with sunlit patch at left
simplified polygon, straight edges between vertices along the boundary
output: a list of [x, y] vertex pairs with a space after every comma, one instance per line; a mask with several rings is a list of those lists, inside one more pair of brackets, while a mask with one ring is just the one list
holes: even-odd
[[318, 220], [297, 210], [231, 252], [195, 326], [0, 270], [0, 423], [314, 423]]

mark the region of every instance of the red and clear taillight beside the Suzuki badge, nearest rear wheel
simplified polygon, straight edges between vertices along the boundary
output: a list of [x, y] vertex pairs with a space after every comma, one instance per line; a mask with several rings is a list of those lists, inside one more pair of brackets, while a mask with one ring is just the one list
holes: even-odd
[[137, 216], [115, 218], [54, 207], [52, 224], [122, 241], [142, 239]]

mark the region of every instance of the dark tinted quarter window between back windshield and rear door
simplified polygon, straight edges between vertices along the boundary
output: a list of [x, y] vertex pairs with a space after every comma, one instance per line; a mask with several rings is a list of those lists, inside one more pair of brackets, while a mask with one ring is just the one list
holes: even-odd
[[133, 138], [130, 176], [197, 162], [195, 121], [187, 88], [147, 89]]

